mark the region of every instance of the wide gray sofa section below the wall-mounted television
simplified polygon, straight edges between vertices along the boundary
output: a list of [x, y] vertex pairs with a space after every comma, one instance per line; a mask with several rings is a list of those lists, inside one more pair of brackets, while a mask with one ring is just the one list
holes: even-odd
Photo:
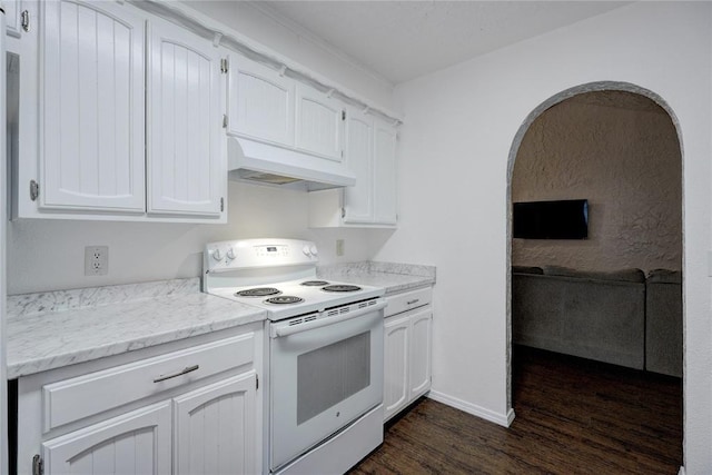
[[515, 344], [645, 368], [645, 275], [513, 267]]

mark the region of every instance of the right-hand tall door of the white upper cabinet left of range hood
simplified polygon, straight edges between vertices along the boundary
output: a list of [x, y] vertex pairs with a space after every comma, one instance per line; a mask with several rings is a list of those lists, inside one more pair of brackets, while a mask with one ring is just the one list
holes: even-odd
[[219, 217], [227, 188], [218, 49], [175, 24], [149, 24], [148, 211]]

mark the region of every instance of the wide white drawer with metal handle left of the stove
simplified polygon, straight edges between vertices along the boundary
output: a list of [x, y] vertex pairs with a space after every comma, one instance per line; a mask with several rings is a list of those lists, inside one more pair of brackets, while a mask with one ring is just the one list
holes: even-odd
[[254, 358], [255, 334], [247, 333], [44, 385], [43, 432], [250, 364]]

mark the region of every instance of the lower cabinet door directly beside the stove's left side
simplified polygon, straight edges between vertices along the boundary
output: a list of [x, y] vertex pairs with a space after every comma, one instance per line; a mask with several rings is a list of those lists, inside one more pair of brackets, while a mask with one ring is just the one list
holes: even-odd
[[257, 472], [256, 378], [253, 370], [175, 399], [175, 474]]

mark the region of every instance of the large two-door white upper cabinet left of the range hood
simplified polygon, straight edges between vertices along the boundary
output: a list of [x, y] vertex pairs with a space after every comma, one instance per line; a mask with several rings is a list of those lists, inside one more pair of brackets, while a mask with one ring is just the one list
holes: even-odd
[[11, 6], [13, 218], [225, 222], [221, 49], [129, 2]]

